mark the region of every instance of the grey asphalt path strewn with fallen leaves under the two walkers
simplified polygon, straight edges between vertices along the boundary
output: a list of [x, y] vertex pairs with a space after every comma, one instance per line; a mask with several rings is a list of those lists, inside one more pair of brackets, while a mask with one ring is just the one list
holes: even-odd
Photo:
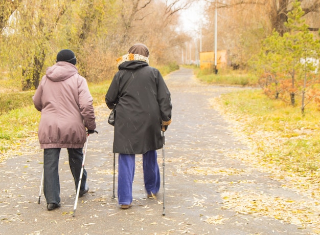
[[[166, 76], [166, 83], [173, 121], [165, 132], [164, 165], [162, 149], [157, 152], [165, 185], [162, 181], [156, 198], [147, 198], [142, 156], [137, 155], [132, 207], [122, 210], [112, 199], [113, 127], [107, 123], [110, 111], [99, 106], [99, 134], [89, 136], [85, 161], [89, 192], [79, 199], [75, 216], [76, 191], [65, 149], [59, 162], [61, 207], [48, 211], [42, 192], [38, 204], [43, 153], [34, 138], [21, 146], [23, 154], [0, 164], [0, 234], [312, 234], [274, 217], [240, 213], [230, 203], [233, 198], [241, 205], [246, 195], [261, 191], [297, 197], [257, 167], [228, 157], [248, 146], [233, 135], [232, 123], [212, 99], [243, 88], [201, 84], [186, 68]], [[117, 162], [116, 156], [116, 196]]]

